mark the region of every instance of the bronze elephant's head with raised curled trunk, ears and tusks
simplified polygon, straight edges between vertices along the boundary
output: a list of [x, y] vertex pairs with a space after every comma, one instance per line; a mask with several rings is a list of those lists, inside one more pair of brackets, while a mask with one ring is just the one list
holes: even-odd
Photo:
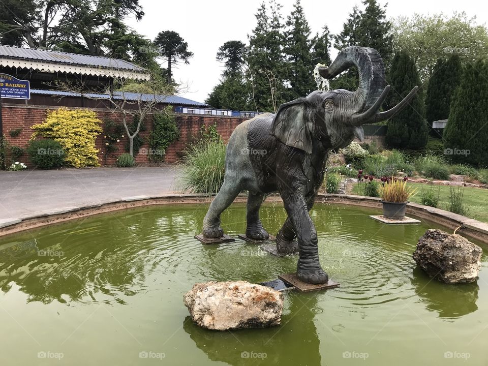
[[359, 73], [357, 90], [316, 91], [306, 98], [282, 104], [273, 119], [271, 134], [307, 154], [312, 154], [314, 141], [320, 141], [326, 149], [345, 147], [354, 136], [362, 140], [363, 124], [391, 118], [417, 93], [418, 86], [415, 86], [398, 105], [378, 112], [390, 86], [385, 86], [383, 60], [373, 48], [343, 49], [329, 67], [319, 68], [319, 73], [332, 79], [352, 66]]

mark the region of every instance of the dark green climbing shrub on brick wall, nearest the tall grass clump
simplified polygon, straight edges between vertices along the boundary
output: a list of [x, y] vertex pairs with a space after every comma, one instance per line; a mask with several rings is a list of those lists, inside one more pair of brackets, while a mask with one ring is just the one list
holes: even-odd
[[149, 135], [149, 160], [152, 162], [164, 161], [166, 149], [178, 138], [179, 130], [172, 107], [166, 107], [162, 113], [155, 113], [153, 131]]

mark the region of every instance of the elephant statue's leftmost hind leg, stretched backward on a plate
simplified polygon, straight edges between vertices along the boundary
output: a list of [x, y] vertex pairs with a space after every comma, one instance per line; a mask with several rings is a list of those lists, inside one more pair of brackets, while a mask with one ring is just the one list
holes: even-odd
[[203, 236], [216, 238], [224, 235], [224, 230], [220, 226], [220, 215], [230, 206], [239, 192], [240, 185], [236, 185], [235, 181], [229, 182], [229, 180], [224, 179], [224, 184], [212, 203], [210, 203], [207, 214], [203, 219]]

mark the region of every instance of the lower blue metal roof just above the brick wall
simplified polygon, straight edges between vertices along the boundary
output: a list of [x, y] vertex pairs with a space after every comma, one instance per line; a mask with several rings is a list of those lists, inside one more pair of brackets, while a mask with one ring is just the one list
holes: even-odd
[[[123, 92], [114, 92], [113, 97], [114, 99], [122, 99]], [[60, 97], [80, 97], [82, 95], [89, 97], [89, 98], [108, 98], [108, 94], [97, 94], [97, 93], [72, 93], [72, 92], [62, 92], [60, 90], [42, 90], [42, 89], [31, 89], [31, 94], [41, 94], [41, 95], [50, 95], [50, 96], [60, 96]], [[153, 94], [144, 94], [144, 93], [131, 93], [131, 92], [124, 92], [124, 97], [128, 101], [137, 101], [141, 99], [142, 101], [150, 101], [153, 100]], [[174, 106], [179, 105], [189, 105], [189, 106], [200, 106], [200, 107], [209, 107], [208, 104], [200, 103], [193, 101], [191, 99], [178, 97], [178, 96], [164, 96], [158, 95], [156, 96], [156, 100], [161, 103], [165, 104], [172, 104]]]

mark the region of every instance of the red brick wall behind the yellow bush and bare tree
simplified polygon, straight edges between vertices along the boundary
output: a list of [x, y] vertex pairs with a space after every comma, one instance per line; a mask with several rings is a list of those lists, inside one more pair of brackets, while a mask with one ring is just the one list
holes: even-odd
[[[33, 133], [33, 131], [31, 130], [31, 126], [42, 123], [46, 118], [47, 112], [53, 109], [56, 109], [56, 107], [3, 104], [2, 120], [4, 136], [7, 138], [11, 145], [24, 148]], [[121, 123], [119, 114], [111, 113], [111, 111], [107, 109], [92, 110], [97, 112], [98, 117], [102, 121], [106, 119], [112, 119]], [[232, 134], [232, 131], [234, 131], [235, 127], [246, 119], [247, 118], [241, 117], [177, 114], [176, 124], [178, 125], [178, 128], [180, 130], [180, 139], [178, 141], [175, 141], [167, 148], [165, 162], [174, 163], [175, 161], [180, 159], [186, 145], [200, 137], [200, 128], [202, 125], [208, 127], [217, 123], [218, 132], [222, 135], [223, 139], [227, 141]], [[146, 131], [141, 132], [140, 136], [143, 137], [145, 141], [147, 141], [152, 127], [150, 115], [146, 118], [145, 126]], [[22, 128], [20, 134], [17, 137], [11, 137], [9, 132], [18, 128]], [[113, 165], [115, 163], [116, 157], [122, 153], [125, 153], [126, 141], [127, 136], [124, 133], [124, 138], [116, 144], [118, 150], [115, 151], [113, 155], [107, 158], [107, 165]], [[104, 165], [105, 145], [103, 134], [97, 137], [96, 146], [99, 149], [99, 162], [101, 165]], [[144, 143], [142, 148], [149, 148], [147, 142]], [[30, 163], [26, 155], [24, 155], [20, 160], [26, 164]], [[147, 155], [143, 154], [137, 155], [136, 162], [140, 164], [149, 163]]]

